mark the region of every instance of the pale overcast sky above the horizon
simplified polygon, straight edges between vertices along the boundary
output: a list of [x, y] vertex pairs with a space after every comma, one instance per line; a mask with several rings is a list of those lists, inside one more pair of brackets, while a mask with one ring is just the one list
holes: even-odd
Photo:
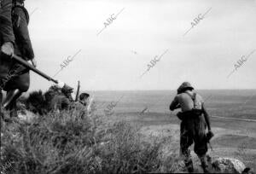
[[[189, 81], [196, 89], [256, 89], [255, 0], [26, 0], [26, 8], [34, 11], [38, 69], [54, 76], [81, 50], [55, 76], [73, 87], [80, 80], [82, 90], [174, 90]], [[250, 56], [227, 78], [243, 55]], [[50, 84], [32, 73], [31, 90]]]

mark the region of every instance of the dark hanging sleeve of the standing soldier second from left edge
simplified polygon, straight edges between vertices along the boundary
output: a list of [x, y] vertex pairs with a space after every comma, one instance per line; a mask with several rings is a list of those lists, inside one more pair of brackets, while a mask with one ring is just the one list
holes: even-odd
[[25, 55], [28, 60], [34, 58], [32, 43], [29, 37], [28, 24], [26, 21], [26, 14], [23, 9], [14, 9], [14, 32], [18, 45], [22, 45], [22, 55]]

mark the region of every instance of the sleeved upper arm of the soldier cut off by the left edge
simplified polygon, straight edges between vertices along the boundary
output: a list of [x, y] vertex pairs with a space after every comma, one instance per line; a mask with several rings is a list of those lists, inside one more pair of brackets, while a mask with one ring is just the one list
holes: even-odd
[[0, 32], [3, 43], [15, 43], [15, 35], [11, 20], [12, 0], [1, 1], [0, 9]]

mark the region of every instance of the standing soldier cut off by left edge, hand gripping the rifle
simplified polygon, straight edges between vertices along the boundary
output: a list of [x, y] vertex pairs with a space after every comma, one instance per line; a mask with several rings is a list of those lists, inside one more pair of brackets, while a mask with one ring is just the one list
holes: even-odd
[[[12, 0], [0, 0], [0, 84], [9, 71], [3, 64], [3, 59], [9, 59], [14, 54], [15, 35], [13, 32], [11, 20]], [[0, 104], [2, 103], [3, 94], [0, 86]], [[0, 106], [2, 117], [2, 108]]]

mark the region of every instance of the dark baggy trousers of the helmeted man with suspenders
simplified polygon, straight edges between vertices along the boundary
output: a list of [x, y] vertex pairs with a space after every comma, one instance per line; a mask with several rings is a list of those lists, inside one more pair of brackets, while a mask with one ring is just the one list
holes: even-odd
[[189, 113], [180, 125], [180, 150], [185, 163], [191, 163], [189, 146], [195, 143], [194, 151], [200, 158], [207, 154], [206, 121], [202, 115]]

